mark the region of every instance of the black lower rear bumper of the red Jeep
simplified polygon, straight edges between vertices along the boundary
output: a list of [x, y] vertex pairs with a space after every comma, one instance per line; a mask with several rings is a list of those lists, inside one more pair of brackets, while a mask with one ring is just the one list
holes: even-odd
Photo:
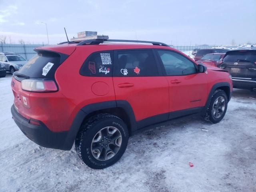
[[72, 148], [74, 140], [73, 142], [66, 141], [68, 131], [52, 132], [42, 122], [40, 122], [40, 126], [30, 124], [28, 119], [17, 112], [14, 105], [12, 105], [11, 112], [12, 118], [20, 130], [36, 144], [46, 148], [61, 150], [70, 150]]

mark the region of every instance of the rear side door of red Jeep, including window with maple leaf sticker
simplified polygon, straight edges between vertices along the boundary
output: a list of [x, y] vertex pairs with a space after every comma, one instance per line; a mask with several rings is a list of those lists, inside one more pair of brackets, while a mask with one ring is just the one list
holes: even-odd
[[159, 115], [141, 126], [168, 120], [168, 82], [161, 76], [153, 50], [116, 50], [113, 82], [116, 100], [129, 102], [137, 122]]

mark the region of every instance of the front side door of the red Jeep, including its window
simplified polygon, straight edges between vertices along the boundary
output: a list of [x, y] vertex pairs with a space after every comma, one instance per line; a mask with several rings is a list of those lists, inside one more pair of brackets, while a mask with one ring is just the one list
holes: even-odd
[[204, 106], [207, 74], [198, 73], [196, 64], [178, 52], [157, 50], [157, 53], [169, 84], [170, 112]]

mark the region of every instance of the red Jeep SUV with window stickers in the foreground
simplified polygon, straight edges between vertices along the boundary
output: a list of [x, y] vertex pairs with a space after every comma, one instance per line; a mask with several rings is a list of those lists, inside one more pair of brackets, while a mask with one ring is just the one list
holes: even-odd
[[131, 42], [38, 47], [14, 73], [12, 116], [30, 140], [61, 150], [75, 143], [84, 163], [101, 169], [146, 126], [196, 113], [222, 120], [232, 92], [226, 70], [207, 69], [160, 42], [116, 41]]

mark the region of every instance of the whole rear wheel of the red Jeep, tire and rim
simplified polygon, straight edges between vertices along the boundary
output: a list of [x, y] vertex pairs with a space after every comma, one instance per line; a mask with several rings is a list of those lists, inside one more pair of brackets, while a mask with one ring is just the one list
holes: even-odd
[[82, 126], [75, 148], [87, 166], [103, 169], [122, 157], [128, 138], [127, 126], [120, 118], [111, 114], [98, 114]]

